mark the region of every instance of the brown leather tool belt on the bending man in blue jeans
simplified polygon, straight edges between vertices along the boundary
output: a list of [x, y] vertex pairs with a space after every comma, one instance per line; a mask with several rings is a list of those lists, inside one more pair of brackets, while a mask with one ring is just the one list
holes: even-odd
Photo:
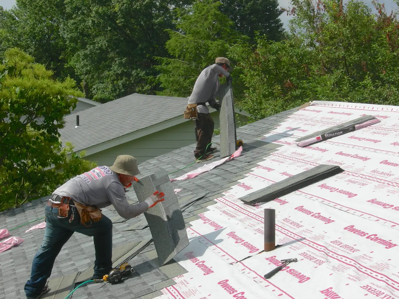
[[[103, 213], [97, 206], [82, 205], [73, 201], [70, 197], [61, 197], [53, 194], [51, 197], [53, 201], [60, 203], [53, 203], [47, 201], [47, 205], [53, 208], [58, 208], [58, 218], [67, 218], [69, 214], [69, 207], [75, 207], [80, 216], [80, 222], [86, 227], [90, 227], [92, 222], [97, 222], [103, 217]], [[72, 205], [71, 205], [71, 203]], [[73, 205], [74, 204], [74, 205]]]

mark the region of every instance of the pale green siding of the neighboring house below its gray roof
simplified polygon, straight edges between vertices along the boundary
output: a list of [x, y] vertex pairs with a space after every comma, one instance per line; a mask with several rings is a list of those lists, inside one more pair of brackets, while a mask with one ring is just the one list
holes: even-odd
[[[211, 116], [215, 122], [215, 129], [219, 128], [219, 112], [212, 112]], [[98, 165], [111, 166], [118, 155], [132, 155], [136, 157], [138, 163], [142, 163], [194, 143], [196, 143], [194, 122], [188, 120], [182, 124], [88, 155], [85, 159], [97, 161]]]

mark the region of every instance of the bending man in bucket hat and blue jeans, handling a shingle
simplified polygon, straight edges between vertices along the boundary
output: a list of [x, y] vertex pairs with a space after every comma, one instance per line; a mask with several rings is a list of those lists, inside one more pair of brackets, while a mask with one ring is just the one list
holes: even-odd
[[[47, 279], [55, 258], [74, 232], [92, 236], [96, 260], [93, 279], [101, 279], [112, 269], [112, 222], [101, 208], [113, 205], [125, 219], [134, 218], [163, 201], [163, 193], [130, 205], [125, 187], [138, 175], [136, 158], [120, 155], [111, 167], [99, 166], [78, 175], [57, 188], [45, 206], [46, 230], [34, 256], [27, 298], [40, 298], [49, 291]], [[76, 259], [79, 259], [78, 257]]]

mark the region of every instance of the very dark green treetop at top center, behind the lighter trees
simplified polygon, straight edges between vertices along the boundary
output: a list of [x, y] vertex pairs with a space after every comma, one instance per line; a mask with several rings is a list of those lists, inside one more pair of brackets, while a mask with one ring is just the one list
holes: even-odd
[[256, 32], [279, 41], [284, 28], [280, 20], [282, 9], [278, 0], [220, 0], [221, 12], [233, 21], [235, 30], [255, 43]]

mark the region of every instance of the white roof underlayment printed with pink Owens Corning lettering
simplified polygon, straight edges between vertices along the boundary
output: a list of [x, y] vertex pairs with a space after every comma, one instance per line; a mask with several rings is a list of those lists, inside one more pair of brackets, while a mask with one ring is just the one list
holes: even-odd
[[[364, 115], [381, 122], [294, 144]], [[191, 222], [190, 245], [175, 258], [188, 273], [157, 298], [399, 298], [399, 108], [315, 101], [262, 140], [284, 146]], [[258, 207], [239, 201], [320, 164], [344, 172]], [[272, 252], [262, 252], [267, 208], [276, 210], [276, 243], [284, 245]], [[288, 258], [298, 262], [263, 277]]]

